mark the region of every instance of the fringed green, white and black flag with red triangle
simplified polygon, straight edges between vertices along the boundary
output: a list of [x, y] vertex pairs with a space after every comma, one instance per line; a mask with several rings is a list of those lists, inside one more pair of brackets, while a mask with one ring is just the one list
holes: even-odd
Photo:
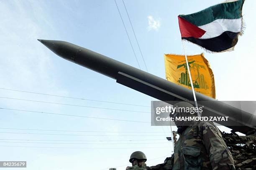
[[210, 52], [233, 50], [242, 34], [244, 0], [232, 0], [189, 15], [179, 15], [179, 30], [188, 40]]

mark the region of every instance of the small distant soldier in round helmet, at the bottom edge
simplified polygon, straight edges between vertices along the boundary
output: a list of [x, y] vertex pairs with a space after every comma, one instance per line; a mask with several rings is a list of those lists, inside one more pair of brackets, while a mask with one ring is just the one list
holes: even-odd
[[150, 170], [146, 165], [146, 155], [141, 151], [136, 151], [131, 154], [129, 162], [132, 163], [132, 167], [128, 166], [126, 170]]

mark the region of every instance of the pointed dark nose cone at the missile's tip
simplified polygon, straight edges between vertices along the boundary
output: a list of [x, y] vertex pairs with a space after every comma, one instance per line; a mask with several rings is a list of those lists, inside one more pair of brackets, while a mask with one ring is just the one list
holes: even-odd
[[57, 40], [41, 40], [38, 39], [39, 42], [44, 44], [49, 50], [54, 52], [56, 55], [60, 57], [72, 61], [75, 61], [75, 55], [79, 50], [79, 46], [74, 45], [65, 41], [57, 41]]

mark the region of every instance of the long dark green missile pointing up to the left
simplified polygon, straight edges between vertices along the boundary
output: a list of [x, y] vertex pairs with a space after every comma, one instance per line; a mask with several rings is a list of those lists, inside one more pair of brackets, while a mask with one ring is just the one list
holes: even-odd
[[[194, 100], [192, 90], [164, 80], [161, 77], [157, 77], [143, 70], [139, 70], [130, 65], [126, 65], [123, 62], [119, 62], [110, 57], [88, 50], [84, 47], [79, 47], [78, 45], [59, 40], [38, 39], [38, 41], [59, 57], [111, 77], [122, 85], [161, 101], [165, 101], [173, 105], [174, 101], [192, 102]], [[195, 95], [198, 105], [205, 106], [203, 111], [204, 115], [212, 117], [230, 117], [230, 125], [225, 126], [233, 129], [234, 132], [241, 132], [244, 134], [256, 133], [256, 126], [254, 126], [256, 124], [253, 124], [256, 122], [256, 117], [252, 114], [206, 95], [202, 95], [198, 92], [195, 92]], [[207, 104], [205, 101], [210, 102], [207, 102]], [[243, 121], [238, 120], [237, 117], [242, 117]], [[218, 123], [224, 125], [221, 121]]]

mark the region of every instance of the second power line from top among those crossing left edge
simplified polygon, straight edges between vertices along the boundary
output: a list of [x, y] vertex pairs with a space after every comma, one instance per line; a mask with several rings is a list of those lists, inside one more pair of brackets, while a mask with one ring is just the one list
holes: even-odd
[[12, 100], [23, 100], [23, 101], [28, 101], [28, 102], [49, 103], [49, 104], [55, 104], [55, 105], [67, 105], [67, 106], [76, 106], [76, 107], [88, 107], [88, 108], [94, 108], [94, 109], [106, 109], [106, 110], [117, 110], [117, 111], [125, 111], [125, 112], [150, 113], [150, 112], [143, 112], [143, 111], [136, 111], [136, 110], [123, 110], [123, 109], [113, 109], [113, 108], [105, 108], [105, 107], [92, 107], [92, 106], [85, 106], [85, 105], [72, 105], [72, 104], [66, 104], [66, 103], [44, 102], [44, 101], [38, 101], [38, 100], [26, 100], [26, 99], [11, 98], [11, 97], [0, 97], [0, 98], [12, 99]]

